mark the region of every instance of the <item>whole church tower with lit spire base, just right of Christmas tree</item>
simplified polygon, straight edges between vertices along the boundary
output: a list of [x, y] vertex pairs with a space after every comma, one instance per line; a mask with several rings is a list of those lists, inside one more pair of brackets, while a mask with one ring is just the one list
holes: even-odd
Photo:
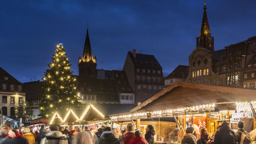
[[89, 39], [88, 27], [86, 38], [84, 42], [83, 48], [83, 56], [79, 57], [79, 76], [89, 76], [89, 77], [97, 77], [97, 59], [96, 56], [93, 58], [93, 53], [91, 51], [91, 43]]

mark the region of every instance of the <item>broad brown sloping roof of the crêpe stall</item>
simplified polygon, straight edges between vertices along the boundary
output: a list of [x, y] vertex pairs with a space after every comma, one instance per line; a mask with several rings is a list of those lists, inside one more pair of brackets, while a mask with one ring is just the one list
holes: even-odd
[[219, 102], [256, 101], [255, 94], [256, 90], [246, 88], [176, 82], [130, 110], [130, 113]]

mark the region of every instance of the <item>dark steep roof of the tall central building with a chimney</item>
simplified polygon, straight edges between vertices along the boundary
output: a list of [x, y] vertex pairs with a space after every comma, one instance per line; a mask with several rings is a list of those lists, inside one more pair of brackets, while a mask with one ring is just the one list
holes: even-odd
[[162, 69], [161, 65], [157, 61], [154, 55], [136, 53], [136, 58], [133, 57], [132, 53], [128, 52], [128, 55], [133, 61], [135, 67], [145, 67], [145, 68], [159, 68]]

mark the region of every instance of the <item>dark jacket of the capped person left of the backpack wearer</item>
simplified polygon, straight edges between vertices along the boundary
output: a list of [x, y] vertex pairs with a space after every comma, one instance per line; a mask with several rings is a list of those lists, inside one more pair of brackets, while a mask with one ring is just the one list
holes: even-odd
[[231, 130], [229, 128], [229, 124], [227, 123], [223, 123], [219, 126], [219, 129], [217, 130], [217, 132], [215, 133], [214, 136], [214, 144], [234, 144], [235, 141], [228, 141], [228, 139], [226, 139], [225, 137], [225, 133], [229, 133], [231, 132], [231, 134], [233, 134], [233, 137], [235, 138], [235, 133], [233, 130]]

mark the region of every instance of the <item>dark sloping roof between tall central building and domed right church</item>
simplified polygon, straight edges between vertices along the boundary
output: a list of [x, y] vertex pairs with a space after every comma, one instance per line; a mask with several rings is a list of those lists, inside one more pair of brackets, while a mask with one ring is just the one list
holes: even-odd
[[188, 68], [187, 65], [178, 65], [168, 76], [166, 76], [164, 79], [170, 79], [170, 78], [180, 78], [185, 79], [188, 76]]

